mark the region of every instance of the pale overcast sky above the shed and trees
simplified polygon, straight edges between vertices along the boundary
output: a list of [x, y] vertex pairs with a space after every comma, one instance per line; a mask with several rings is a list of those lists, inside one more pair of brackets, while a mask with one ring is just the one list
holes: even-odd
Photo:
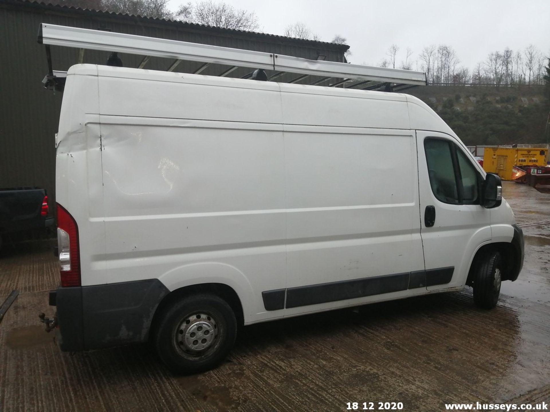
[[[171, 0], [169, 7], [189, 0]], [[195, 1], [192, 1], [194, 3]], [[429, 44], [453, 46], [460, 65], [470, 70], [492, 51], [523, 49], [530, 43], [550, 54], [550, 0], [226, 0], [253, 10], [260, 31], [282, 35], [301, 21], [331, 41], [348, 40], [351, 63], [377, 65], [388, 47], [400, 47], [397, 62], [410, 47], [413, 59]], [[396, 63], [397, 65], [397, 63]], [[413, 67], [413, 69], [415, 69]]]

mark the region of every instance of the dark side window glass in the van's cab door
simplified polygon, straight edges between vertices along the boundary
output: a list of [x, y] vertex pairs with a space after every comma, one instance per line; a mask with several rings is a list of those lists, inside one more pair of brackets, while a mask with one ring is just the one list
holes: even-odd
[[430, 186], [438, 201], [479, 204], [480, 176], [467, 155], [442, 138], [424, 140]]

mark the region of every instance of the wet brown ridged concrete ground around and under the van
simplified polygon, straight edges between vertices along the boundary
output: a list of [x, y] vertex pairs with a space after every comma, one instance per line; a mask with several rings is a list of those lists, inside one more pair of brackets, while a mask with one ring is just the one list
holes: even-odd
[[496, 309], [471, 289], [245, 327], [226, 363], [171, 375], [146, 345], [67, 354], [37, 321], [57, 263], [44, 242], [0, 252], [0, 411], [344, 411], [346, 402], [550, 400], [550, 194], [504, 182], [526, 239]]

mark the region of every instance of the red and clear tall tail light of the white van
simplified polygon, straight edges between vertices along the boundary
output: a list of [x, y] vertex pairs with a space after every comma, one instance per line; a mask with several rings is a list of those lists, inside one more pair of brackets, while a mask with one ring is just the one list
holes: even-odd
[[73, 216], [57, 203], [57, 246], [61, 286], [80, 286], [78, 226]]

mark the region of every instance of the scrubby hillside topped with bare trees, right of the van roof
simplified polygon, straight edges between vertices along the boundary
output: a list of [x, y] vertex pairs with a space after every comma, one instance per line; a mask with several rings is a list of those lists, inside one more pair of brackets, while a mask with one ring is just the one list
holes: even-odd
[[427, 46], [416, 60], [392, 44], [384, 67], [425, 71], [430, 86], [408, 93], [432, 107], [466, 144], [550, 141], [550, 59], [532, 44], [491, 52], [470, 70], [447, 44]]

